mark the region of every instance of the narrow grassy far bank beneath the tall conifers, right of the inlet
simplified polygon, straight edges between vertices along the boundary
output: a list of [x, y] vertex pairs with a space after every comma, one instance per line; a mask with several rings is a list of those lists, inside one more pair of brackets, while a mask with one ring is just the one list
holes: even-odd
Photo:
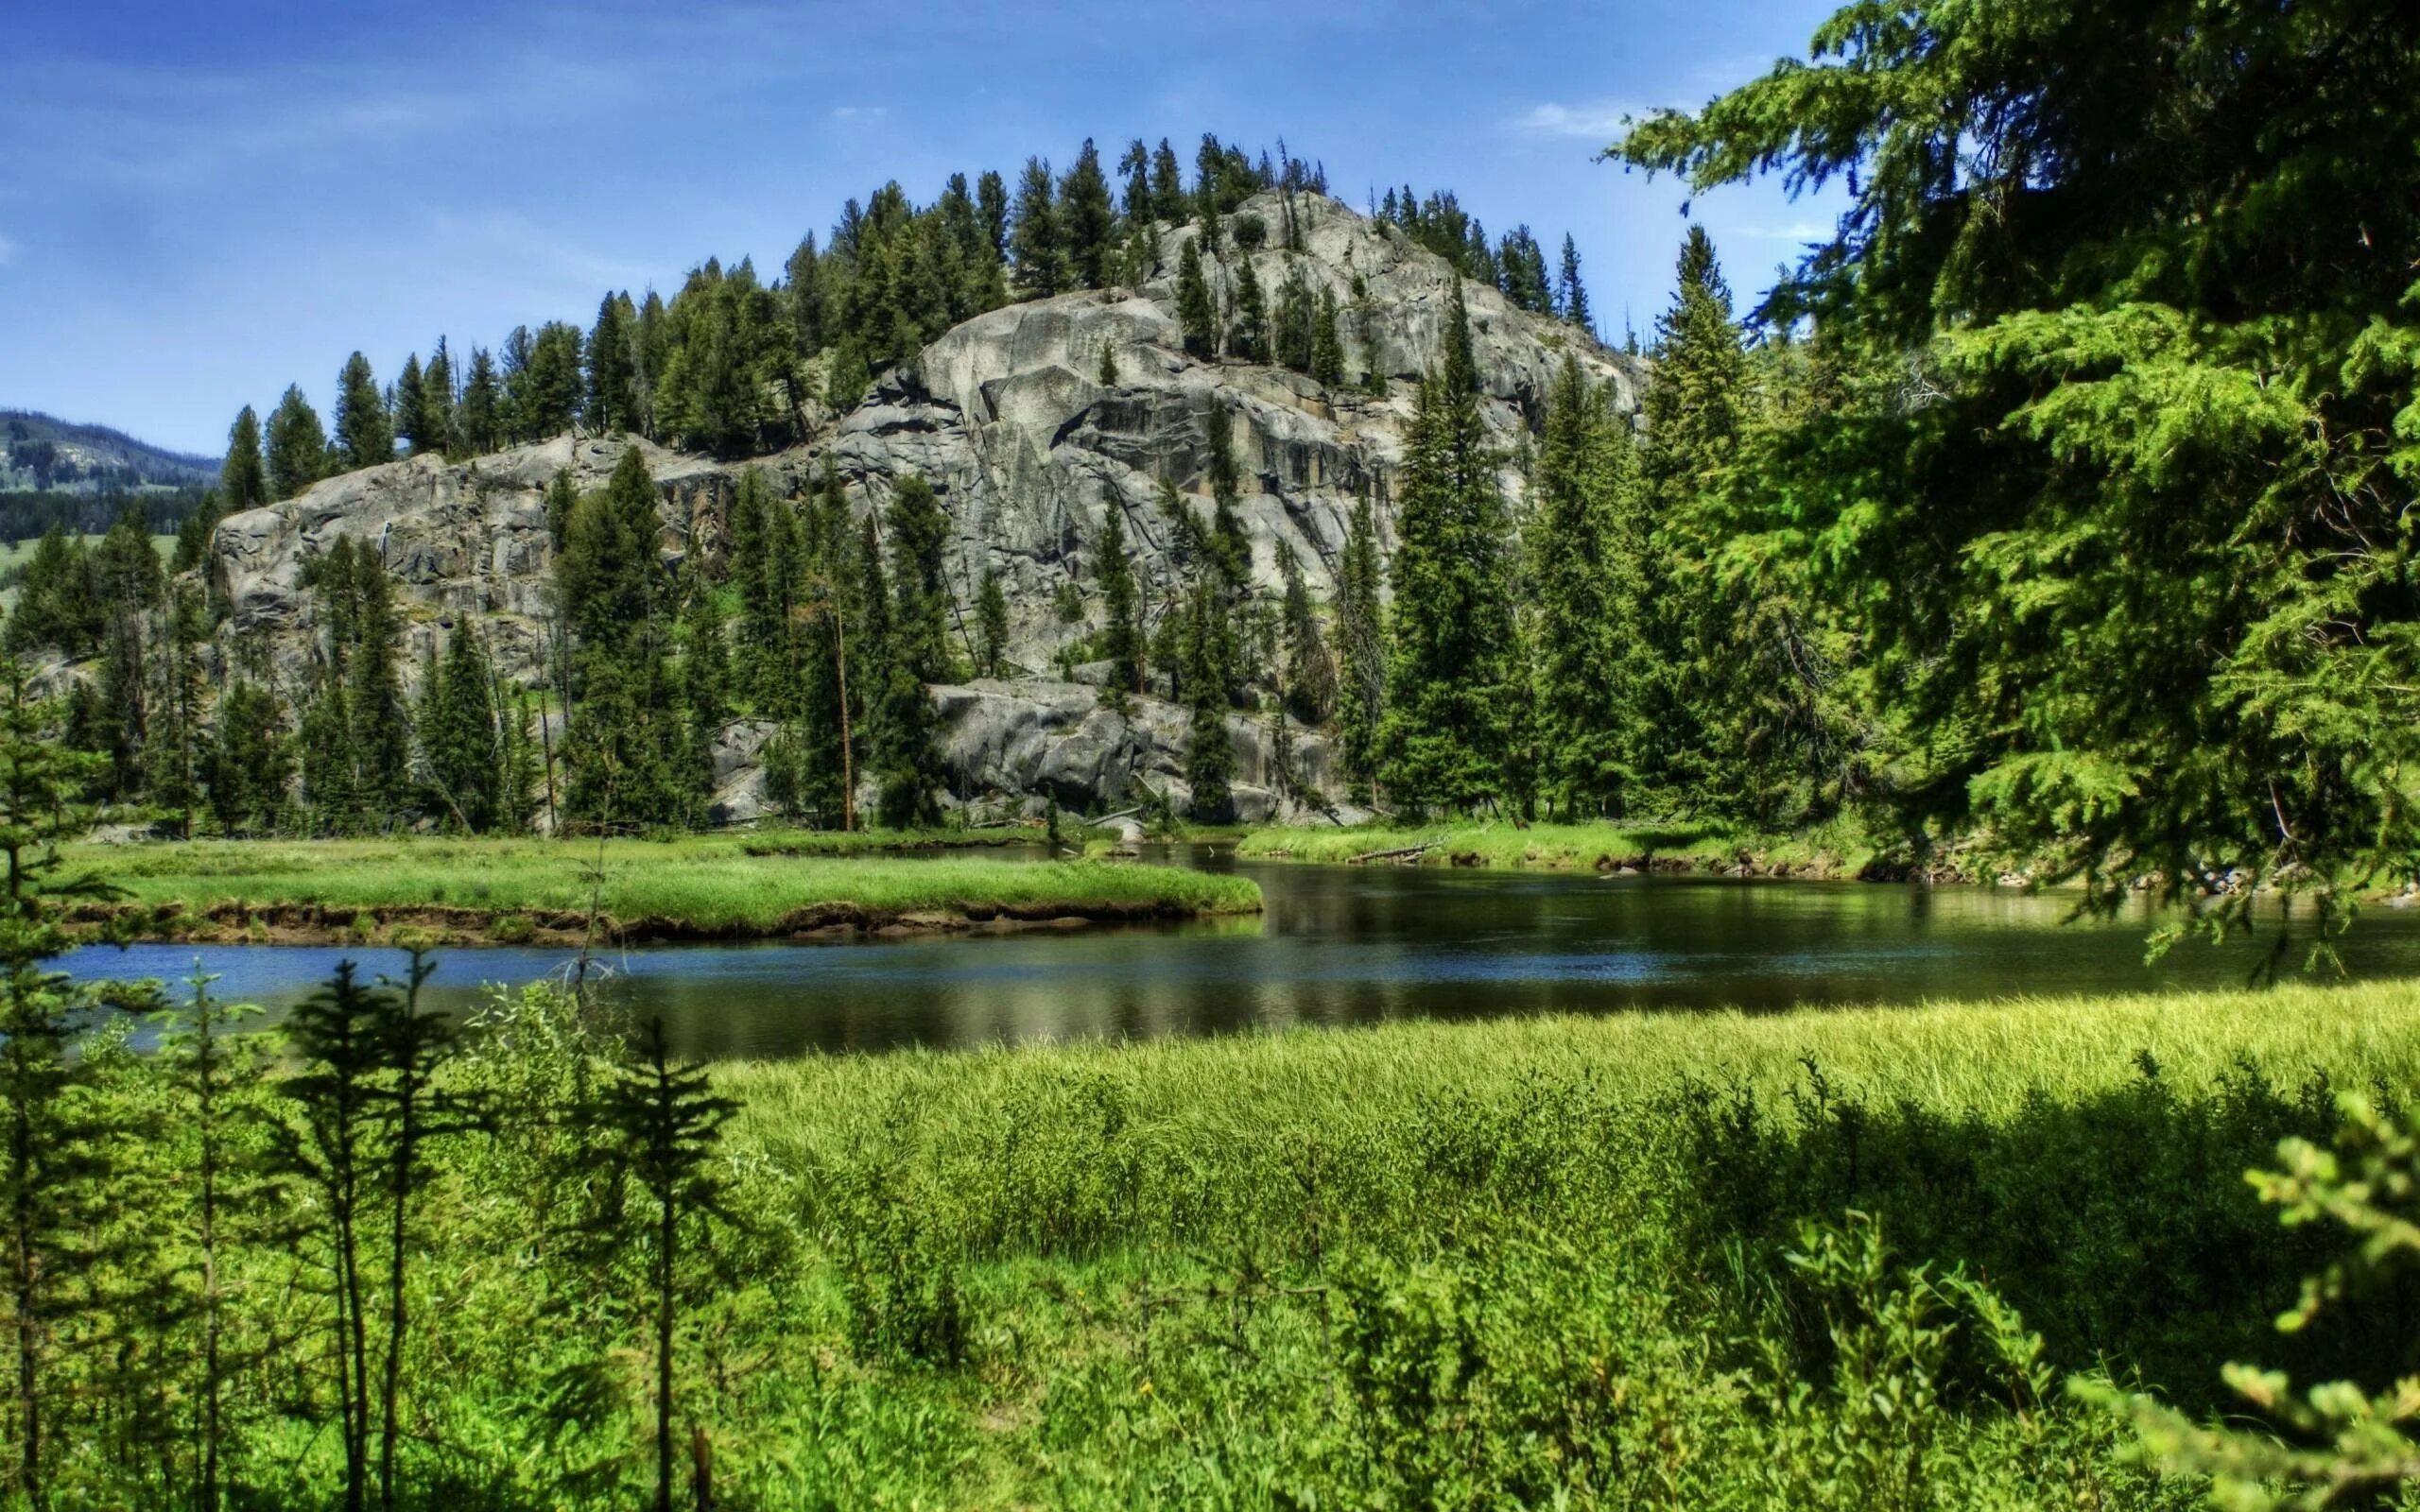
[[1396, 861], [1418, 866], [1539, 866], [1634, 871], [1745, 871], [1752, 876], [1902, 876], [1873, 839], [1849, 825], [1800, 835], [1742, 835], [1706, 825], [1355, 825], [1251, 830], [1239, 856], [1292, 861]]

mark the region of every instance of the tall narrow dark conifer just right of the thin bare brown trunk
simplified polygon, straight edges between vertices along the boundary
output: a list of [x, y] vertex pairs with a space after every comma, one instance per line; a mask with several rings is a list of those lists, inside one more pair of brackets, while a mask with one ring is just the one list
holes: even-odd
[[876, 769], [883, 777], [883, 825], [929, 825], [941, 818], [941, 752], [929, 682], [949, 682], [949, 581], [941, 547], [949, 515], [932, 486], [908, 474], [891, 494], [891, 627], [883, 641], [883, 716]]

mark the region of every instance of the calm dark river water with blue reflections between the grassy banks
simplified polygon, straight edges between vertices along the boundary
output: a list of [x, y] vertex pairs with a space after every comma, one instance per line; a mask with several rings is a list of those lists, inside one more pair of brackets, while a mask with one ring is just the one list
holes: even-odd
[[[2149, 914], [2062, 924], [2064, 900], [1994, 888], [1595, 878], [1588, 873], [1179, 861], [1261, 883], [1258, 919], [881, 943], [666, 946], [610, 956], [615, 992], [690, 1055], [1203, 1035], [1292, 1023], [1786, 1009], [2042, 992], [2234, 987], [2263, 943], [2178, 946], [2144, 965]], [[317, 946], [85, 948], [77, 975], [165, 977], [194, 958], [230, 999], [286, 1006], [341, 958]], [[2357, 977], [2420, 975], [2420, 912], [2367, 910], [2343, 941]], [[431, 982], [564, 968], [559, 948], [448, 951]]]

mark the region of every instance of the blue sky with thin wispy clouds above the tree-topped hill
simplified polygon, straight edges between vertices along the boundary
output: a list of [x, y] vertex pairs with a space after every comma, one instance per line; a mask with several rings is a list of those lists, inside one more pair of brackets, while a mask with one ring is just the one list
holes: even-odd
[[[588, 322], [709, 254], [772, 271], [849, 196], [953, 169], [1280, 135], [1355, 206], [1454, 189], [1580, 242], [1600, 324], [1670, 290], [1682, 191], [1592, 162], [1624, 111], [1803, 53], [1827, 0], [17, 0], [0, 48], [0, 406], [218, 452], [438, 334]], [[1014, 177], [1014, 174], [1012, 174]], [[1832, 203], [1696, 201], [1764, 288]]]

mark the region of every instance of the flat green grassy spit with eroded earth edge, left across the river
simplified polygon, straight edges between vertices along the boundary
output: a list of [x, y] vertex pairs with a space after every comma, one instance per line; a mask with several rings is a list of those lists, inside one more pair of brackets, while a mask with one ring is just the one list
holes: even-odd
[[1256, 912], [1258, 888], [1171, 866], [874, 854], [864, 837], [189, 842], [82, 847], [172, 939], [748, 939]]

